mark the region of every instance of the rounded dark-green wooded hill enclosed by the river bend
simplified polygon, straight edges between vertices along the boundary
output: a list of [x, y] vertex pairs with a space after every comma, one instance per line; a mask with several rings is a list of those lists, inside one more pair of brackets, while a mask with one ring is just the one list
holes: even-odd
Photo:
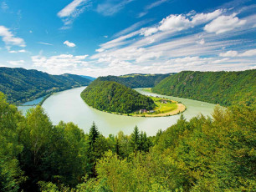
[[95, 80], [84, 89], [81, 98], [95, 109], [120, 114], [129, 114], [139, 109], [153, 109], [154, 101], [125, 85]]

